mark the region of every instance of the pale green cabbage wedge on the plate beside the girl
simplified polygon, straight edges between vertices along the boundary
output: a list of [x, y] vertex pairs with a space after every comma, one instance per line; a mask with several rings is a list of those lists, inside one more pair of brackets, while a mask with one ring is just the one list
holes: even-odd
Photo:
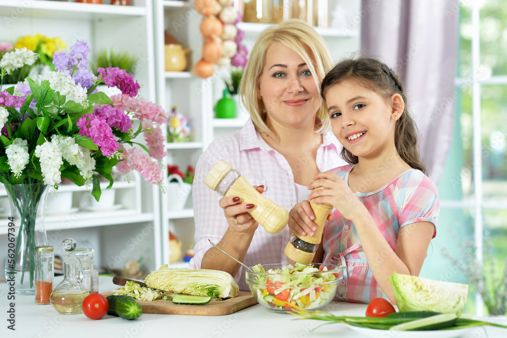
[[389, 280], [400, 312], [434, 311], [460, 316], [468, 285], [394, 273]]

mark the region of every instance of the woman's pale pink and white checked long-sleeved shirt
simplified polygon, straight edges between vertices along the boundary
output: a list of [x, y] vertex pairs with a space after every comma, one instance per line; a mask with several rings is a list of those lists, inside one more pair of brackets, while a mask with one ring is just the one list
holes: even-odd
[[[316, 162], [320, 171], [345, 164], [341, 159], [342, 146], [332, 132], [322, 135], [322, 144], [317, 150]], [[263, 195], [277, 205], [291, 210], [298, 202], [296, 185], [291, 166], [277, 151], [272, 149], [256, 131], [249, 119], [238, 131], [214, 140], [200, 156], [196, 165], [196, 176], [193, 183], [193, 203], [195, 220], [195, 256], [189, 267], [199, 268], [204, 253], [213, 243], [222, 240], [229, 224], [224, 210], [219, 206], [221, 196], [204, 184], [204, 179], [213, 165], [225, 160], [241, 173], [252, 185], [264, 185]], [[301, 159], [301, 165], [308, 162]], [[283, 253], [289, 241], [289, 230], [271, 234], [259, 226], [253, 236], [243, 263], [247, 266], [270, 263], [286, 263], [287, 256]], [[226, 257], [224, 256], [224, 259]], [[241, 290], [248, 290], [245, 282], [244, 268], [235, 276]]]

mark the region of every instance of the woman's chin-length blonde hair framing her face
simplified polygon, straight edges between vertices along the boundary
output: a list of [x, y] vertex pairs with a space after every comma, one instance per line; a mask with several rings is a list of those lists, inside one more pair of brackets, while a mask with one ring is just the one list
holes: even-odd
[[[282, 43], [288, 48], [291, 48], [305, 60], [315, 79], [315, 84], [319, 92], [320, 81], [332, 66], [331, 54], [324, 39], [322, 39], [312, 26], [302, 20], [286, 20], [278, 25], [272, 25], [264, 29], [259, 34], [248, 56], [248, 63], [246, 64], [245, 72], [239, 87], [239, 94], [257, 130], [265, 132], [271, 137], [275, 136], [266, 124], [264, 118], [265, 107], [258, 93], [258, 85], [266, 63], [266, 51], [269, 46], [275, 42]], [[308, 48], [313, 55], [310, 55], [306, 48]], [[315, 60], [312, 59], [312, 56], [314, 56]], [[316, 132], [322, 133], [328, 130], [330, 127], [330, 119], [322, 104], [316, 114], [322, 122], [316, 129]]]

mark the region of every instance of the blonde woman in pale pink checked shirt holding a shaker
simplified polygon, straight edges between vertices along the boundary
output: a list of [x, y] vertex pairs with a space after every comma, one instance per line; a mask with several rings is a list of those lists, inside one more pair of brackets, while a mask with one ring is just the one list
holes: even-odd
[[268, 233], [247, 213], [254, 205], [240, 204], [237, 196], [220, 198], [204, 185], [204, 178], [224, 159], [279, 206], [292, 210], [306, 200], [314, 175], [345, 163], [319, 90], [331, 66], [325, 42], [303, 21], [287, 20], [260, 33], [240, 86], [251, 118], [241, 130], [211, 143], [196, 165], [196, 254], [190, 268], [226, 271], [240, 289], [248, 290], [242, 266], [211, 247], [208, 239], [244, 264], [255, 265], [286, 263], [283, 251], [290, 231], [313, 234], [315, 224], [300, 227], [292, 221], [281, 232]]

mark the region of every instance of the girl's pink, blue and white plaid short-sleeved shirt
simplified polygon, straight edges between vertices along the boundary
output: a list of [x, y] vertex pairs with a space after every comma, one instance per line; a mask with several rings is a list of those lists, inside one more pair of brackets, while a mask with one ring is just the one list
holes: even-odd
[[[333, 172], [348, 182], [353, 167], [345, 165]], [[407, 224], [431, 222], [435, 225], [433, 238], [437, 235], [440, 213], [437, 186], [421, 171], [410, 169], [382, 188], [357, 192], [356, 196], [366, 206], [393, 251], [400, 228]], [[338, 288], [335, 299], [369, 303], [373, 298], [386, 298], [373, 277], [354, 223], [336, 209], [334, 216], [335, 219], [324, 226], [324, 262], [347, 266], [343, 285]]]

